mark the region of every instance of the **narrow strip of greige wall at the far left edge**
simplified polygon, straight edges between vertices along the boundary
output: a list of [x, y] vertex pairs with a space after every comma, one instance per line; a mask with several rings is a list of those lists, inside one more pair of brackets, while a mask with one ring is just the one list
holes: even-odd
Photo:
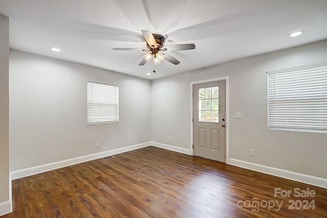
[[9, 202], [9, 18], [0, 15], [0, 216]]

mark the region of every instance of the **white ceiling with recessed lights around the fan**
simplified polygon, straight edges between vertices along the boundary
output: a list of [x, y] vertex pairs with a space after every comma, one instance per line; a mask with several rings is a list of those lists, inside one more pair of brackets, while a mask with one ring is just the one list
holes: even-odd
[[[10, 18], [10, 48], [156, 79], [327, 38], [327, 0], [1, 0]], [[141, 29], [167, 35], [180, 60], [138, 66]], [[295, 30], [305, 34], [290, 38]], [[55, 53], [50, 47], [62, 51]]]

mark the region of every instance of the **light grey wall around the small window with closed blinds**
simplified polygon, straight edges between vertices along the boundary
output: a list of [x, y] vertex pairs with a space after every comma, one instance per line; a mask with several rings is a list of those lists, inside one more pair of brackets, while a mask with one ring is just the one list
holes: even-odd
[[[15, 50], [9, 77], [10, 171], [151, 139], [149, 80]], [[119, 85], [119, 124], [86, 125], [88, 80]]]

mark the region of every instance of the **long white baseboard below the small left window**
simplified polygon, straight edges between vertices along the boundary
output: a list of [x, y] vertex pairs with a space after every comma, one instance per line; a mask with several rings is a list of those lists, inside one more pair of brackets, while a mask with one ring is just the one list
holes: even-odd
[[30, 168], [26, 168], [26, 169], [20, 169], [20, 170], [10, 172], [10, 177], [12, 180], [15, 180], [15, 179], [23, 178], [23, 177], [32, 176], [32, 175], [35, 175], [35, 174], [38, 174], [41, 172], [59, 169], [62, 167], [83, 163], [86, 161], [91, 161], [91, 160], [95, 160], [95, 159], [99, 159], [99, 158], [103, 158], [103, 157], [107, 157], [107, 156], [111, 156], [111, 155], [120, 154], [120, 153], [130, 151], [130, 150], [148, 147], [150, 145], [151, 145], [151, 142], [145, 142], [145, 143], [141, 143], [141, 144], [136, 144], [136, 145], [126, 146], [126, 147], [122, 147], [122, 148], [116, 148], [116, 149], [112, 149], [112, 150], [98, 152], [98, 153], [91, 154], [91, 155], [85, 155], [82, 157], [72, 158], [72, 159], [68, 159], [68, 160], [58, 161], [58, 162], [44, 164], [44, 165], [35, 166], [35, 167], [30, 167]]

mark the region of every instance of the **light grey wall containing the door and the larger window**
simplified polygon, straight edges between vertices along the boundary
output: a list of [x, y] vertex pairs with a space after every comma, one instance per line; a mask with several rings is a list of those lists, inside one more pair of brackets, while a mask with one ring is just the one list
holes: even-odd
[[327, 179], [327, 134], [267, 127], [266, 72], [321, 61], [327, 40], [153, 80], [152, 141], [190, 148], [190, 82], [230, 76], [230, 158]]

